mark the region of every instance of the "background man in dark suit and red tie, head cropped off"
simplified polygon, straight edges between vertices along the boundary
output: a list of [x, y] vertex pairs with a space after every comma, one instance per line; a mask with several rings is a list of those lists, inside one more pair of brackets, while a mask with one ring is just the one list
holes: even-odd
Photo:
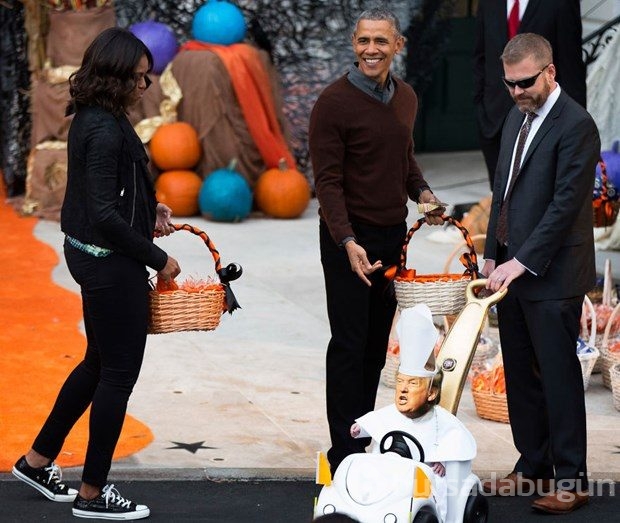
[[[581, 51], [579, 0], [480, 0], [474, 48], [474, 103], [480, 148], [493, 189], [501, 130], [512, 100], [502, 83], [499, 59], [518, 33], [544, 36], [553, 48], [562, 89], [586, 106], [586, 66]], [[514, 34], [510, 34], [514, 32]]]

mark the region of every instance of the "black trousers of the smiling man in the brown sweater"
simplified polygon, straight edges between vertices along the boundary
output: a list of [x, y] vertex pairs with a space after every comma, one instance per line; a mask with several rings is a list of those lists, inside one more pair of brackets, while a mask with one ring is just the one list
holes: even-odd
[[[404, 222], [392, 227], [354, 224], [353, 229], [371, 263], [381, 260], [384, 267], [398, 263], [407, 232]], [[356, 418], [375, 408], [396, 298], [383, 271], [373, 273], [371, 287], [359, 279], [323, 221], [320, 246], [331, 329], [326, 400], [332, 445], [327, 457], [333, 472], [346, 456], [364, 452], [370, 443], [368, 438], [353, 439], [350, 428]]]

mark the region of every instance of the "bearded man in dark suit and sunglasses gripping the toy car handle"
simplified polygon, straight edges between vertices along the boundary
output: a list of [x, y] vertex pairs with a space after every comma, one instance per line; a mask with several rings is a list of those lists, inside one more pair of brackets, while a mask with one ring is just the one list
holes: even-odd
[[517, 35], [501, 59], [516, 105], [502, 131], [482, 273], [489, 289], [508, 288], [498, 322], [520, 456], [511, 474], [483, 488], [544, 494], [555, 479], [559, 490], [533, 507], [562, 514], [588, 501], [576, 342], [596, 276], [592, 189], [600, 139], [591, 116], [556, 83], [546, 39]]

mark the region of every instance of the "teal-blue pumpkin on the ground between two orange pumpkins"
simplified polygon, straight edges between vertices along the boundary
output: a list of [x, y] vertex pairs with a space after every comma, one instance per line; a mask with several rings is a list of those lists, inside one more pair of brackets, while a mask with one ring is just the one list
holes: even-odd
[[240, 222], [252, 210], [252, 190], [247, 180], [234, 170], [235, 163], [213, 171], [202, 182], [198, 205], [207, 220]]

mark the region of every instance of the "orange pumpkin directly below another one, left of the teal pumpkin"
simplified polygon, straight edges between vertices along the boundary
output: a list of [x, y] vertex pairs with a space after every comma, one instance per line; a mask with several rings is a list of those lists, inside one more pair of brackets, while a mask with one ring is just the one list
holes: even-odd
[[202, 179], [193, 171], [165, 171], [155, 181], [155, 196], [175, 216], [194, 216], [201, 185]]

